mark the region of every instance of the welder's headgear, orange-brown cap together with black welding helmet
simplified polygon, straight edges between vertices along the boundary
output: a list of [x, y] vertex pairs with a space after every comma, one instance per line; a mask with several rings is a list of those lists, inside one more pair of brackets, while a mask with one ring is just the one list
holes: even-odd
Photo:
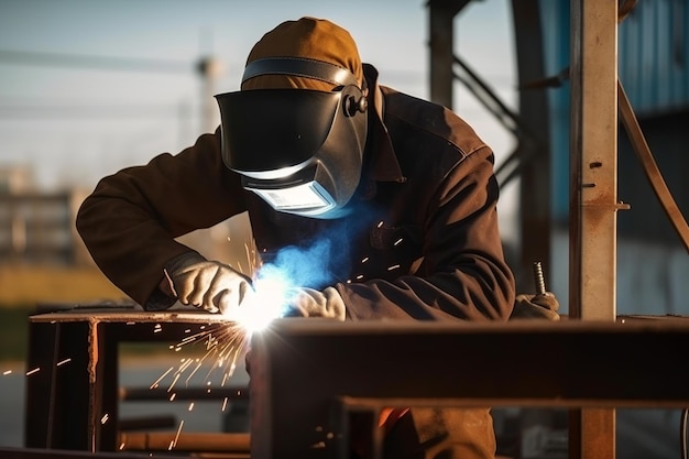
[[361, 176], [364, 85], [344, 29], [309, 17], [278, 24], [251, 50], [242, 90], [216, 96], [225, 164], [278, 211], [343, 215]]

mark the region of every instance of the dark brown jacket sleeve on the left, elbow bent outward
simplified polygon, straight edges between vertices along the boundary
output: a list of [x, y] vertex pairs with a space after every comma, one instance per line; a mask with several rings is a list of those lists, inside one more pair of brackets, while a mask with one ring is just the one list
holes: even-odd
[[243, 211], [242, 196], [238, 176], [222, 164], [218, 130], [177, 155], [100, 179], [76, 227], [103, 274], [146, 307], [160, 295], [165, 263], [192, 250], [175, 238]]

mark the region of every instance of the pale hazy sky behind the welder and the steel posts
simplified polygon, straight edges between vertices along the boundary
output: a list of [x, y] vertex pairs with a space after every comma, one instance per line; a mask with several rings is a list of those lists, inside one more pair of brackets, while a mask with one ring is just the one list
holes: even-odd
[[[455, 51], [513, 107], [508, 3], [471, 2], [456, 18]], [[0, 0], [0, 170], [26, 168], [39, 190], [90, 190], [181, 151], [207, 131], [204, 105], [217, 116], [207, 95], [237, 90], [253, 44], [303, 15], [349, 30], [381, 84], [428, 97], [424, 0]], [[221, 68], [210, 89], [203, 57]], [[513, 139], [459, 83], [455, 91], [455, 111], [500, 162]]]

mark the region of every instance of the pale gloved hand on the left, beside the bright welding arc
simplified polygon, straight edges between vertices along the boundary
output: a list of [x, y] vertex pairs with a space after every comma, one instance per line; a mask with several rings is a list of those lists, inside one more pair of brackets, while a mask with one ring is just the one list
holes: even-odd
[[226, 313], [238, 307], [252, 289], [251, 278], [196, 252], [173, 259], [165, 270], [179, 303], [210, 313]]

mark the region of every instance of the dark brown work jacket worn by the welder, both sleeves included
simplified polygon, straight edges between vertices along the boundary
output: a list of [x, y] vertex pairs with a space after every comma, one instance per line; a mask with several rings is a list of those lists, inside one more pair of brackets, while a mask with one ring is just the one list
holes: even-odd
[[314, 260], [327, 273], [319, 282], [336, 286], [349, 319], [506, 320], [514, 278], [491, 149], [452, 111], [379, 86], [371, 65], [364, 73], [375, 110], [347, 217], [272, 210], [223, 165], [218, 129], [98, 183], [76, 221], [97, 265], [145, 308], [171, 306], [161, 302], [163, 267], [190, 250], [175, 238], [248, 210], [269, 261], [281, 248], [326, 241], [329, 250]]

